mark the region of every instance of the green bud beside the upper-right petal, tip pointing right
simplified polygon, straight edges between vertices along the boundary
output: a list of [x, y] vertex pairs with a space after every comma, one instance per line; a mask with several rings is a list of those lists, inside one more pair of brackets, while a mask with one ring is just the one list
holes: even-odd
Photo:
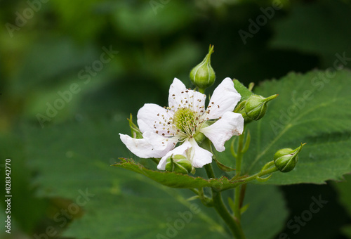
[[273, 95], [267, 98], [258, 95], [250, 96], [245, 103], [246, 116], [251, 120], [260, 120], [265, 116], [268, 101], [272, 101], [272, 99], [277, 98], [277, 96], [278, 95]]

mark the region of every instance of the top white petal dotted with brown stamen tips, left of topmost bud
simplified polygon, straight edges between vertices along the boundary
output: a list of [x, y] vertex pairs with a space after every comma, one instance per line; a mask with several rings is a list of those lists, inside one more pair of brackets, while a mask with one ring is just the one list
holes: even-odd
[[169, 89], [168, 105], [173, 111], [178, 108], [190, 108], [195, 112], [204, 110], [206, 95], [198, 91], [186, 89], [183, 82], [174, 78]]

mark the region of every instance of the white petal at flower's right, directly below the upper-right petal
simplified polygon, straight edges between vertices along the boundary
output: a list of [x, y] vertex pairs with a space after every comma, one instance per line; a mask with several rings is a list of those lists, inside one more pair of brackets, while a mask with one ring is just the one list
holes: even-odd
[[241, 114], [234, 112], [225, 112], [222, 118], [208, 127], [200, 129], [218, 152], [225, 150], [225, 141], [232, 138], [233, 135], [240, 135], [244, 130], [244, 118]]

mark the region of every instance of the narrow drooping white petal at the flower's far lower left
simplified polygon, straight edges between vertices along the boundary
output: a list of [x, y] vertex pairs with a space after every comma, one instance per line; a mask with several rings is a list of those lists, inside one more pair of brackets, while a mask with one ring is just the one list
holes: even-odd
[[138, 157], [163, 157], [168, 153], [168, 150], [155, 150], [154, 147], [148, 143], [145, 138], [131, 138], [126, 134], [119, 134], [121, 141], [126, 145], [131, 153]]

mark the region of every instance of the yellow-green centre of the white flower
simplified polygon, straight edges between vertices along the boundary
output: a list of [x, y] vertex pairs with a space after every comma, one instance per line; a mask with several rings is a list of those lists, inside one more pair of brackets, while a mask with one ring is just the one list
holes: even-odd
[[177, 132], [182, 132], [190, 138], [197, 133], [202, 122], [204, 120], [200, 120], [198, 113], [190, 108], [178, 108], [173, 115], [173, 125], [177, 128]]

